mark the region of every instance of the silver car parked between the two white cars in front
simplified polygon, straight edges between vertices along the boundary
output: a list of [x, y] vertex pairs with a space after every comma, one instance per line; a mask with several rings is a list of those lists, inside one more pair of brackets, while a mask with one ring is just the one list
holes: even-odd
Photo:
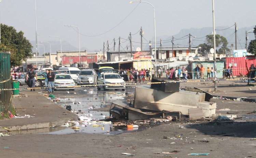
[[94, 69], [84, 69], [79, 73], [77, 80], [77, 85], [81, 84], [96, 84], [97, 83], [97, 73]]

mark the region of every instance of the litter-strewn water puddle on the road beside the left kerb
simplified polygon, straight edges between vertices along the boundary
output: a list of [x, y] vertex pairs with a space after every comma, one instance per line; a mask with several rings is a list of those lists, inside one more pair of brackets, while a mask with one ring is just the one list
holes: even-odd
[[[58, 96], [57, 96], [58, 97]], [[106, 135], [117, 135], [122, 132], [130, 132], [130, 131], [138, 131], [141, 129], [131, 129], [127, 130], [126, 127], [113, 127], [111, 122], [101, 122], [99, 120], [103, 120], [105, 117], [109, 117], [109, 109], [105, 111], [98, 111], [97, 109], [105, 108], [112, 104], [112, 102], [116, 99], [124, 100], [126, 97], [125, 92], [120, 91], [99, 91], [96, 92], [94, 90], [81, 90], [81, 93], [77, 95], [77, 98], [57, 98], [61, 107], [66, 108], [67, 106], [71, 106], [72, 111], [78, 112], [82, 122], [79, 121], [80, 125], [77, 129], [73, 129], [71, 127], [67, 127], [60, 130], [55, 130], [53, 132], [47, 132], [47, 134], [56, 134], [56, 135], [64, 135], [70, 133], [97, 133], [97, 134], [106, 134]], [[96, 123], [97, 121], [97, 123]], [[82, 123], [82, 124], [81, 124]]]

